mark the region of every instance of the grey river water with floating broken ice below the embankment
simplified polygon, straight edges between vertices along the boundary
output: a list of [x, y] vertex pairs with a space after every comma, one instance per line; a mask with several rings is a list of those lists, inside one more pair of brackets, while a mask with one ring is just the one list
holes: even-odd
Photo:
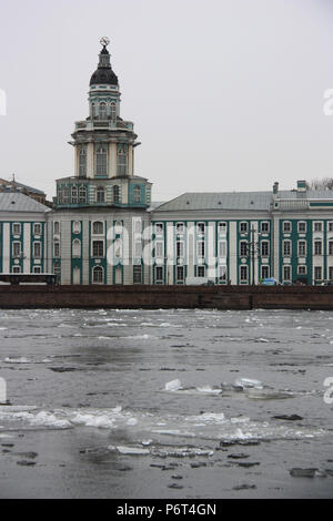
[[333, 496], [330, 311], [2, 310], [0, 343], [2, 498]]

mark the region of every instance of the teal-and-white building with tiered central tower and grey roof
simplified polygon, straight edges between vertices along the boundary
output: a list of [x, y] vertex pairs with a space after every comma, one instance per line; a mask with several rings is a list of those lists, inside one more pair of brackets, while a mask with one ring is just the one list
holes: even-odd
[[284, 284], [333, 280], [333, 192], [185, 193], [151, 202], [135, 174], [140, 144], [120, 116], [108, 40], [90, 79], [88, 118], [72, 134], [74, 173], [54, 208], [0, 193], [0, 270], [49, 272], [61, 284]]

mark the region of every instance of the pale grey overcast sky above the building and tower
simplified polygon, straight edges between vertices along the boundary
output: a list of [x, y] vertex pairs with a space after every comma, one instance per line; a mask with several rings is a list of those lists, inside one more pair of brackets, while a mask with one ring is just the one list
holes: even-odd
[[73, 174], [103, 35], [154, 201], [333, 176], [333, 0], [2, 0], [0, 25], [0, 177]]

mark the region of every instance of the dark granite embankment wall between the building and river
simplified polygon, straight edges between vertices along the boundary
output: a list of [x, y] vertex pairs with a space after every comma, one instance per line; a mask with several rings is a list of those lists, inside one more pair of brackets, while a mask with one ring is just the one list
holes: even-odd
[[0, 308], [332, 309], [333, 286], [0, 286]]

